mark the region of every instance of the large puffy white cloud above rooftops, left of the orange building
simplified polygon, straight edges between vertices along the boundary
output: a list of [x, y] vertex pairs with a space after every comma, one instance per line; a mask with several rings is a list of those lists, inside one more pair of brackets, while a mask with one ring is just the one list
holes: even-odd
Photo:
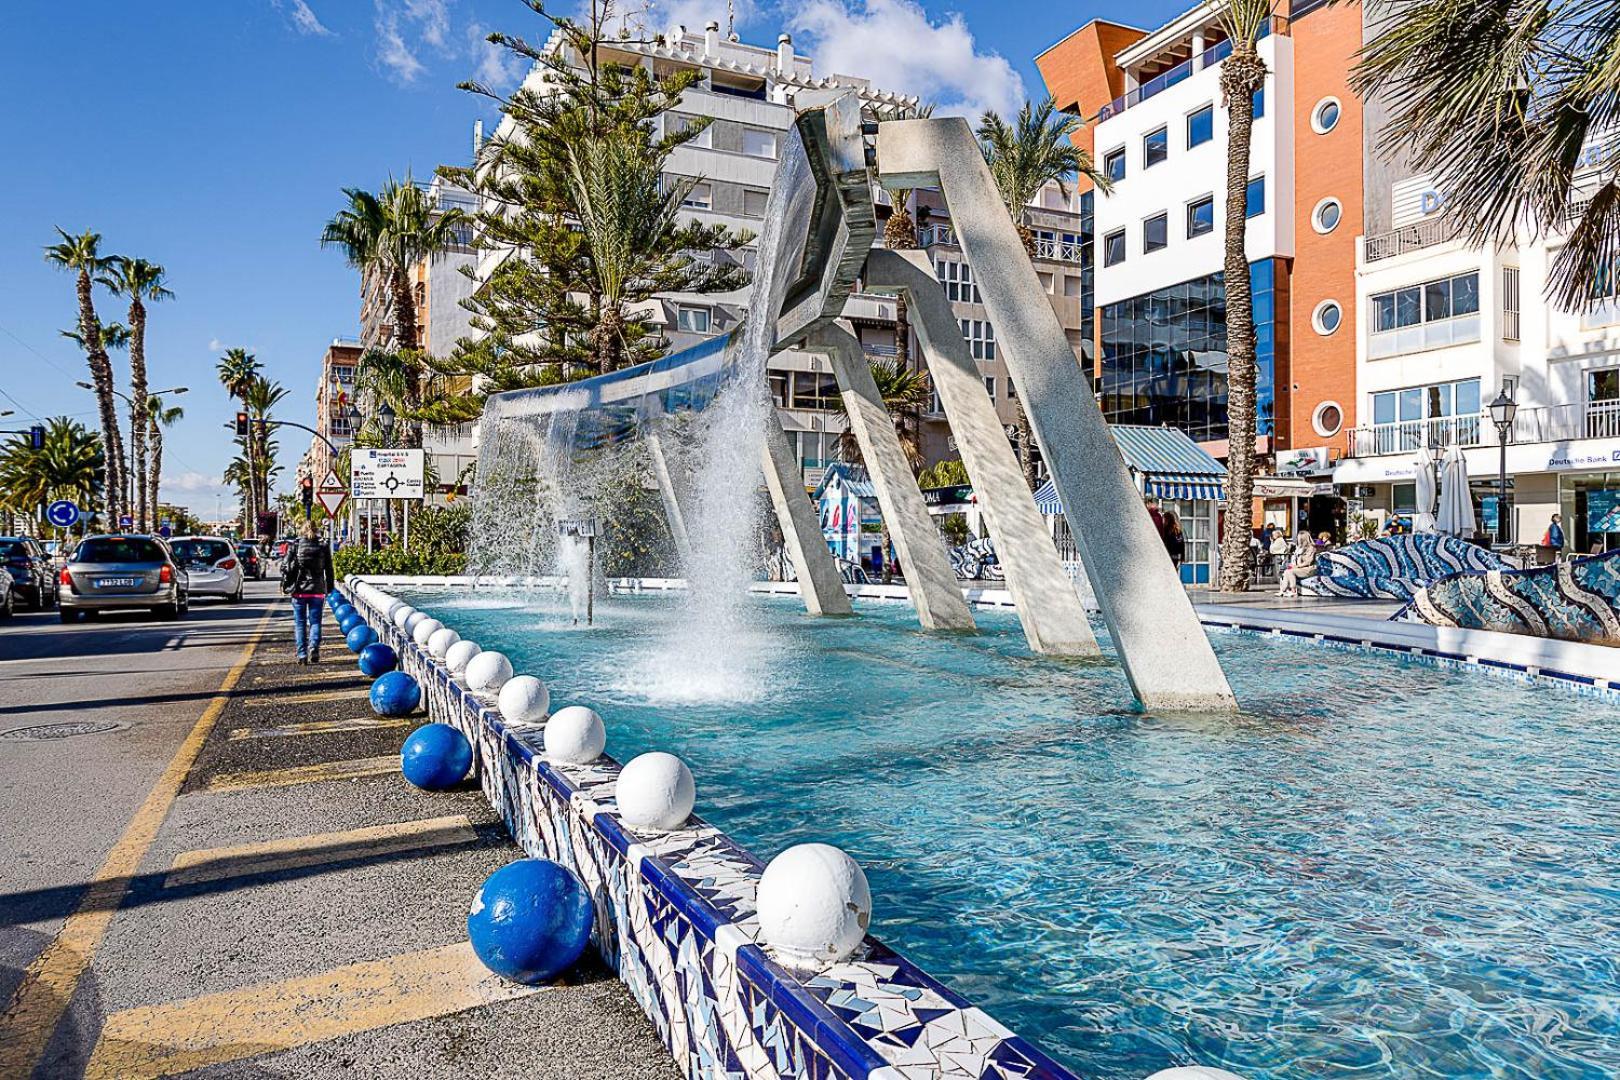
[[912, 0], [805, 0], [789, 15], [812, 39], [816, 74], [855, 74], [936, 104], [936, 115], [1017, 112], [1024, 79], [995, 52], [978, 52], [959, 13], [932, 21]]

